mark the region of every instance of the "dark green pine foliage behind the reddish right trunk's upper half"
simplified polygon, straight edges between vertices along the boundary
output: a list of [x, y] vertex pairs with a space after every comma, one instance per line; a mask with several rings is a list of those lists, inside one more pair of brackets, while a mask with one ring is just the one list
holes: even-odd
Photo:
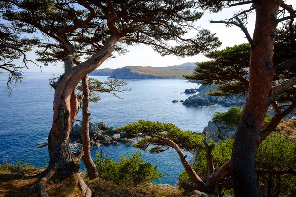
[[[198, 0], [203, 8], [214, 9], [222, 6], [217, 0]], [[216, 2], [217, 1], [217, 2]], [[230, 2], [230, 1], [229, 1]], [[222, 3], [223, 4], [223, 3]], [[218, 9], [219, 10], [219, 9]], [[292, 30], [291, 30], [292, 29]], [[296, 23], [289, 27], [284, 24], [275, 31], [275, 45], [273, 54], [273, 65], [277, 65], [296, 57]], [[223, 50], [215, 50], [206, 55], [210, 61], [198, 62], [193, 75], [184, 77], [191, 80], [198, 80], [204, 85], [211, 85], [213, 82], [221, 92], [210, 93], [216, 96], [229, 96], [234, 94], [244, 95], [249, 87], [249, 61], [250, 44], [234, 45]], [[295, 77], [295, 66], [278, 69], [273, 77], [273, 86], [281, 84], [287, 79]], [[295, 100], [296, 89], [289, 88], [276, 95], [278, 102]]]

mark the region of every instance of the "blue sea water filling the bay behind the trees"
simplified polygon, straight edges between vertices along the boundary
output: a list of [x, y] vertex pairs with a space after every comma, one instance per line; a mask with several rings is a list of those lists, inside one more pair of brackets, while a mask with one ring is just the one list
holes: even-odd
[[[48, 164], [47, 148], [37, 149], [37, 143], [47, 141], [52, 124], [54, 90], [49, 86], [53, 73], [25, 73], [23, 84], [13, 89], [11, 96], [5, 92], [8, 75], [0, 75], [0, 163], [15, 164], [15, 160], [28, 158], [27, 162], [41, 167]], [[104, 81], [106, 76], [91, 76]], [[172, 100], [185, 100], [190, 95], [183, 92], [196, 88], [198, 84], [185, 80], [127, 80], [130, 92], [119, 93], [122, 100], [108, 94], [101, 94], [100, 103], [91, 103], [91, 121], [106, 122], [108, 126], [124, 126], [139, 119], [174, 123], [184, 131], [202, 132], [214, 112], [227, 111], [220, 105], [188, 107]], [[182, 93], [182, 94], [181, 94]], [[81, 118], [81, 112], [78, 119]], [[76, 150], [79, 147], [72, 145]], [[97, 151], [119, 160], [124, 154], [135, 153], [139, 149], [130, 144], [119, 146], [93, 147]], [[158, 165], [159, 172], [165, 176], [157, 183], [175, 185], [179, 174], [184, 170], [178, 154], [169, 149], [161, 154], [142, 151], [142, 157], [151, 164]], [[192, 155], [187, 153], [189, 160]], [[82, 166], [82, 169], [84, 167]]]

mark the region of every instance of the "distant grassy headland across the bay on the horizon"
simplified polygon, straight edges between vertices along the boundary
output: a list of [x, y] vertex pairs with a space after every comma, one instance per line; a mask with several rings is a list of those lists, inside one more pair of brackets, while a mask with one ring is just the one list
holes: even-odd
[[[187, 63], [185, 63], [187, 64]], [[193, 73], [196, 65], [168, 66], [168, 67], [141, 67], [126, 66], [114, 70], [110, 78], [118, 79], [182, 79], [184, 74]]]

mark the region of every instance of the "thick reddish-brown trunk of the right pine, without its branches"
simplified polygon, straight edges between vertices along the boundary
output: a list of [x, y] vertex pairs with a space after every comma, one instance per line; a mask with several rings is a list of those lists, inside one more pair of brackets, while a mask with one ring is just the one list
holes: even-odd
[[253, 3], [256, 24], [250, 49], [249, 94], [234, 137], [232, 178], [236, 197], [261, 197], [256, 181], [255, 151], [261, 141], [260, 131], [271, 103], [272, 79], [276, 72], [273, 62], [274, 32], [281, 0], [260, 0]]

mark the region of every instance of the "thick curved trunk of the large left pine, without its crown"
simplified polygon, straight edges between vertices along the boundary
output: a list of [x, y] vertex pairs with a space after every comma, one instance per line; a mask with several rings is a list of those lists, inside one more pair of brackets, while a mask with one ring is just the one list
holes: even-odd
[[[77, 172], [80, 158], [75, 156], [69, 146], [69, 134], [78, 113], [78, 100], [75, 88], [88, 73], [99, 67], [114, 51], [118, 37], [111, 35], [104, 47], [87, 61], [65, 69], [59, 78], [54, 95], [54, 114], [52, 128], [48, 136], [49, 168], [55, 168], [63, 175]], [[73, 61], [73, 58], [67, 60]], [[65, 63], [65, 66], [73, 65]]]

